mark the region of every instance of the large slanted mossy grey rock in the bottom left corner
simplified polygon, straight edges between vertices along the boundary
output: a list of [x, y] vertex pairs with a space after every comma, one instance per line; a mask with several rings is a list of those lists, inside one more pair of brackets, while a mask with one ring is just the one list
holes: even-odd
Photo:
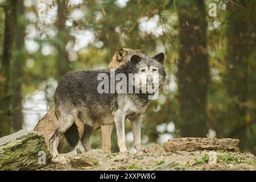
[[0, 170], [35, 170], [51, 161], [42, 135], [20, 130], [0, 138]]

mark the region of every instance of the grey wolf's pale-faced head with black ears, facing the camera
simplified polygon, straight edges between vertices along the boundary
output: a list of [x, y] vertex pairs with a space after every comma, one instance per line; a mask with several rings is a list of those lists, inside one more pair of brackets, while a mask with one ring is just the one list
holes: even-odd
[[166, 79], [163, 61], [163, 53], [159, 53], [154, 57], [144, 55], [131, 56], [130, 73], [135, 78], [135, 82], [133, 82], [135, 89], [139, 89], [141, 93], [155, 94]]

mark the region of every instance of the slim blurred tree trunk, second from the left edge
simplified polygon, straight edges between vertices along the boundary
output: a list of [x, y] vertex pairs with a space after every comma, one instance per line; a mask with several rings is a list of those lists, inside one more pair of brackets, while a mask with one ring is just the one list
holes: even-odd
[[25, 19], [24, 19], [24, 5], [23, 1], [16, 3], [17, 17], [18, 17], [18, 32], [15, 40], [15, 55], [12, 65], [12, 90], [13, 97], [11, 102], [12, 118], [11, 126], [14, 131], [22, 129], [23, 114], [22, 114], [22, 79], [23, 67], [25, 62], [24, 55], [24, 37], [25, 37]]

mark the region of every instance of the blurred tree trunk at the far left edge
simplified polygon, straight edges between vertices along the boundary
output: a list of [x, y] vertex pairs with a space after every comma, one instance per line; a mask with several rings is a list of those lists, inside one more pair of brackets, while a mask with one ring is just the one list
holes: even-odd
[[11, 131], [11, 60], [13, 56], [14, 38], [16, 34], [16, 2], [6, 1], [5, 31], [3, 38], [3, 55], [0, 75], [0, 137]]

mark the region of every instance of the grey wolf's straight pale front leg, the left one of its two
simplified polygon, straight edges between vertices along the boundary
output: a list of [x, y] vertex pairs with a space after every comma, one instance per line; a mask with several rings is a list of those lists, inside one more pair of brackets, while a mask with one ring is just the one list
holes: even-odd
[[117, 129], [117, 144], [120, 152], [127, 151], [125, 139], [125, 114], [121, 110], [117, 110], [114, 116], [115, 128]]

